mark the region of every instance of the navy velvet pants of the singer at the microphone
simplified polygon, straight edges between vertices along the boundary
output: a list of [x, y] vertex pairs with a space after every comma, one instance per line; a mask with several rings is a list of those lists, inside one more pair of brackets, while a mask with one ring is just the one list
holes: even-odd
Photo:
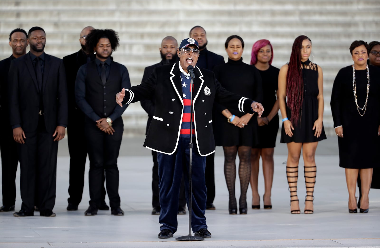
[[[177, 151], [172, 155], [158, 153], [158, 185], [160, 187], [161, 213], [159, 222], [162, 224], [161, 230], [169, 229], [175, 233], [178, 221], [178, 199], [182, 174], [185, 182], [185, 194], [187, 207], [189, 202], [189, 163], [190, 163], [190, 137], [179, 138]], [[206, 217], [206, 183], [204, 170], [206, 167], [206, 157], [201, 157], [193, 138], [192, 156], [192, 229], [193, 232], [202, 228], [207, 228]]]

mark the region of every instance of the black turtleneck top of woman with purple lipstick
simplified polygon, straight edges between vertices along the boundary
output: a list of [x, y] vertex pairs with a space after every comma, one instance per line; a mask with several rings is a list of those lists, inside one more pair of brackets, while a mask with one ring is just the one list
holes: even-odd
[[[227, 63], [215, 66], [213, 71], [217, 80], [228, 91], [262, 102], [261, 76], [255, 66], [243, 63], [242, 58], [237, 61], [228, 58]], [[225, 109], [224, 106], [217, 106], [215, 110], [219, 113]], [[230, 112], [237, 116], [244, 114], [239, 110], [230, 110]]]

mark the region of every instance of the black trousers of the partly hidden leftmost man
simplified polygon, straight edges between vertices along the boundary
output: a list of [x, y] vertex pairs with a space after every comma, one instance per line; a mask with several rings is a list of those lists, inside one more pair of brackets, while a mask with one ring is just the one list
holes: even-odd
[[[3, 115], [2, 115], [3, 116]], [[8, 125], [8, 118], [0, 126], [0, 151], [2, 163], [3, 205], [13, 206], [16, 202], [16, 171], [19, 163], [17, 143], [13, 139], [13, 130]]]

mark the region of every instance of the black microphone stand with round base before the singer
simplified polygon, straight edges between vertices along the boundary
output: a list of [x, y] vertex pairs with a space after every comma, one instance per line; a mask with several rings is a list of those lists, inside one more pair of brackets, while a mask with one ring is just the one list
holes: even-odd
[[[189, 66], [190, 67], [190, 66]], [[194, 70], [194, 68], [193, 68]], [[188, 68], [190, 73], [190, 70]], [[189, 234], [186, 236], [181, 236], [176, 238], [179, 241], [196, 241], [204, 240], [204, 237], [193, 236], [191, 232], [191, 215], [192, 215], [192, 198], [193, 198], [193, 184], [192, 184], [192, 174], [193, 174], [193, 91], [194, 91], [194, 72], [190, 73], [190, 163], [189, 163]]]

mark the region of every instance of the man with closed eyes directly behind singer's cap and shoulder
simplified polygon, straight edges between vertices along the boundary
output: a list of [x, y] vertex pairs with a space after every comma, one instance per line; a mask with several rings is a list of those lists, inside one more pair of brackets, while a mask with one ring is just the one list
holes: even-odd
[[[195, 26], [190, 30], [190, 37], [198, 41], [199, 43], [199, 58], [197, 66], [210, 70], [214, 69], [219, 64], [224, 64], [224, 58], [216, 53], [207, 50], [207, 38], [206, 31], [201, 26]], [[214, 118], [213, 118], [214, 119]], [[213, 204], [215, 199], [215, 175], [214, 175], [214, 157], [212, 153], [206, 157], [206, 170], [204, 172], [206, 176], [206, 188], [207, 188], [207, 201], [206, 209], [215, 210]]]

